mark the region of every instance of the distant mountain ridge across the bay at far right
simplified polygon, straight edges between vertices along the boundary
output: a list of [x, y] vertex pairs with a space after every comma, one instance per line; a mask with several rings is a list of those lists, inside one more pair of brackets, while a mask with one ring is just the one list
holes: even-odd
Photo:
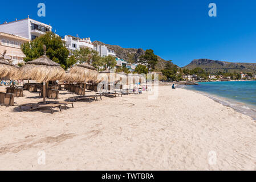
[[186, 69], [194, 69], [200, 67], [208, 73], [217, 72], [244, 72], [256, 73], [256, 63], [231, 63], [227, 61], [217, 61], [210, 59], [194, 59], [190, 64], [186, 65]]

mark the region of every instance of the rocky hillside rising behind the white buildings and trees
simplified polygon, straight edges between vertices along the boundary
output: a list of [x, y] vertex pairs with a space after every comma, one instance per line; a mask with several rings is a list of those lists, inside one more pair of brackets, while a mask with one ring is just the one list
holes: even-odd
[[[145, 54], [145, 51], [142, 48], [136, 49], [136, 48], [123, 48], [116, 45], [110, 45], [105, 44], [103, 42], [95, 40], [92, 42], [94, 45], [101, 45], [101, 46], [107, 46], [109, 48], [112, 48], [115, 50], [116, 56], [120, 59], [126, 60], [128, 63], [138, 63], [139, 57], [141, 55]], [[160, 56], [158, 56], [158, 63], [156, 65], [156, 71], [161, 71], [161, 69], [164, 69], [166, 63], [168, 61], [162, 59]], [[173, 64], [173, 63], [172, 63]]]

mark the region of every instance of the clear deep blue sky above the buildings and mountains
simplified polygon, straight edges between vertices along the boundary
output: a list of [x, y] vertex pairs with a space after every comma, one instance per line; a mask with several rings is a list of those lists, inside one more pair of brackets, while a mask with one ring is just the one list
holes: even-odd
[[[46, 5], [45, 17], [38, 3]], [[208, 15], [209, 3], [217, 5], [216, 17]], [[153, 49], [180, 67], [202, 58], [256, 63], [255, 0], [1, 2], [0, 23], [27, 15], [56, 34]]]

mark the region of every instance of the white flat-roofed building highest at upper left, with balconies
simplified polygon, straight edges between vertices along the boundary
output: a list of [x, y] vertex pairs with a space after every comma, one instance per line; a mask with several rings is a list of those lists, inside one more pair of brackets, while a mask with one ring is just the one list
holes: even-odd
[[13, 22], [5, 22], [0, 24], [0, 32], [21, 36], [29, 40], [51, 31], [52, 27], [48, 24], [38, 22], [31, 18], [15, 20]]

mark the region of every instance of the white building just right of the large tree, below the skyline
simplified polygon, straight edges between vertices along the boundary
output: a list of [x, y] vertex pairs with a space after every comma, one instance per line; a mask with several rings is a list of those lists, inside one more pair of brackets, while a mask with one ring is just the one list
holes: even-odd
[[94, 49], [94, 45], [91, 42], [91, 38], [80, 39], [72, 35], [66, 35], [64, 37], [64, 40], [66, 42], [67, 49], [72, 51], [75, 51], [76, 49], [79, 50], [80, 48], [87, 48], [87, 47], [90, 49]]

